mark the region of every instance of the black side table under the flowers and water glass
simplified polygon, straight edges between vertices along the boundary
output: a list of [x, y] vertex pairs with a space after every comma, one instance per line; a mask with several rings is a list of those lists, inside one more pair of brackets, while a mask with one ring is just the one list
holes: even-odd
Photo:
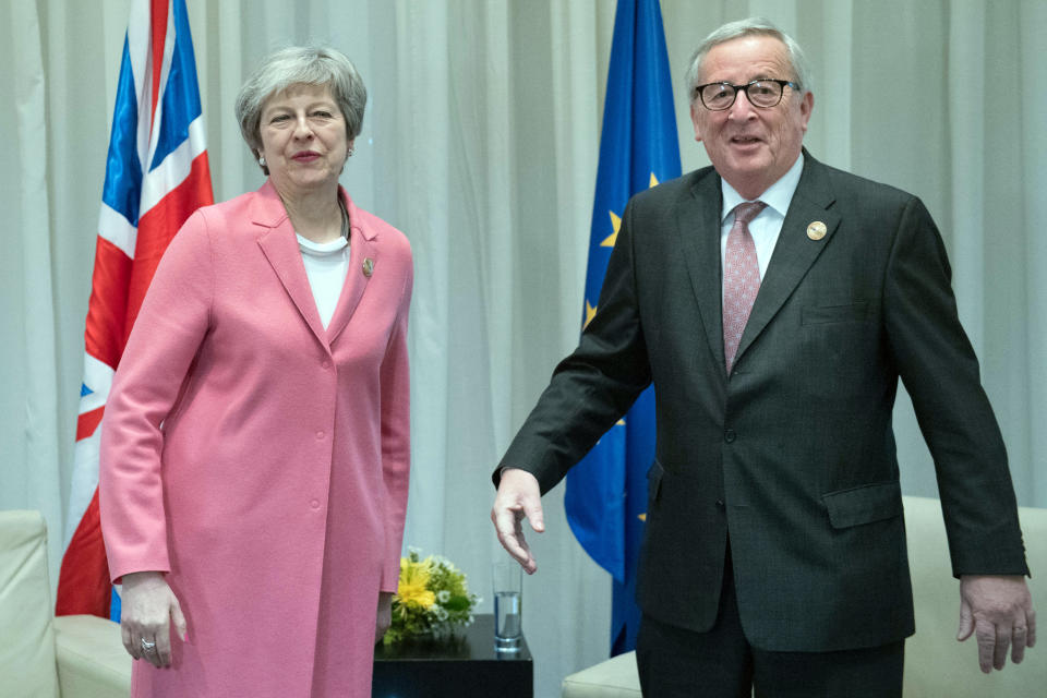
[[378, 645], [373, 698], [533, 698], [534, 667], [527, 640], [516, 652], [494, 651], [494, 616], [480, 614], [446, 643]]

